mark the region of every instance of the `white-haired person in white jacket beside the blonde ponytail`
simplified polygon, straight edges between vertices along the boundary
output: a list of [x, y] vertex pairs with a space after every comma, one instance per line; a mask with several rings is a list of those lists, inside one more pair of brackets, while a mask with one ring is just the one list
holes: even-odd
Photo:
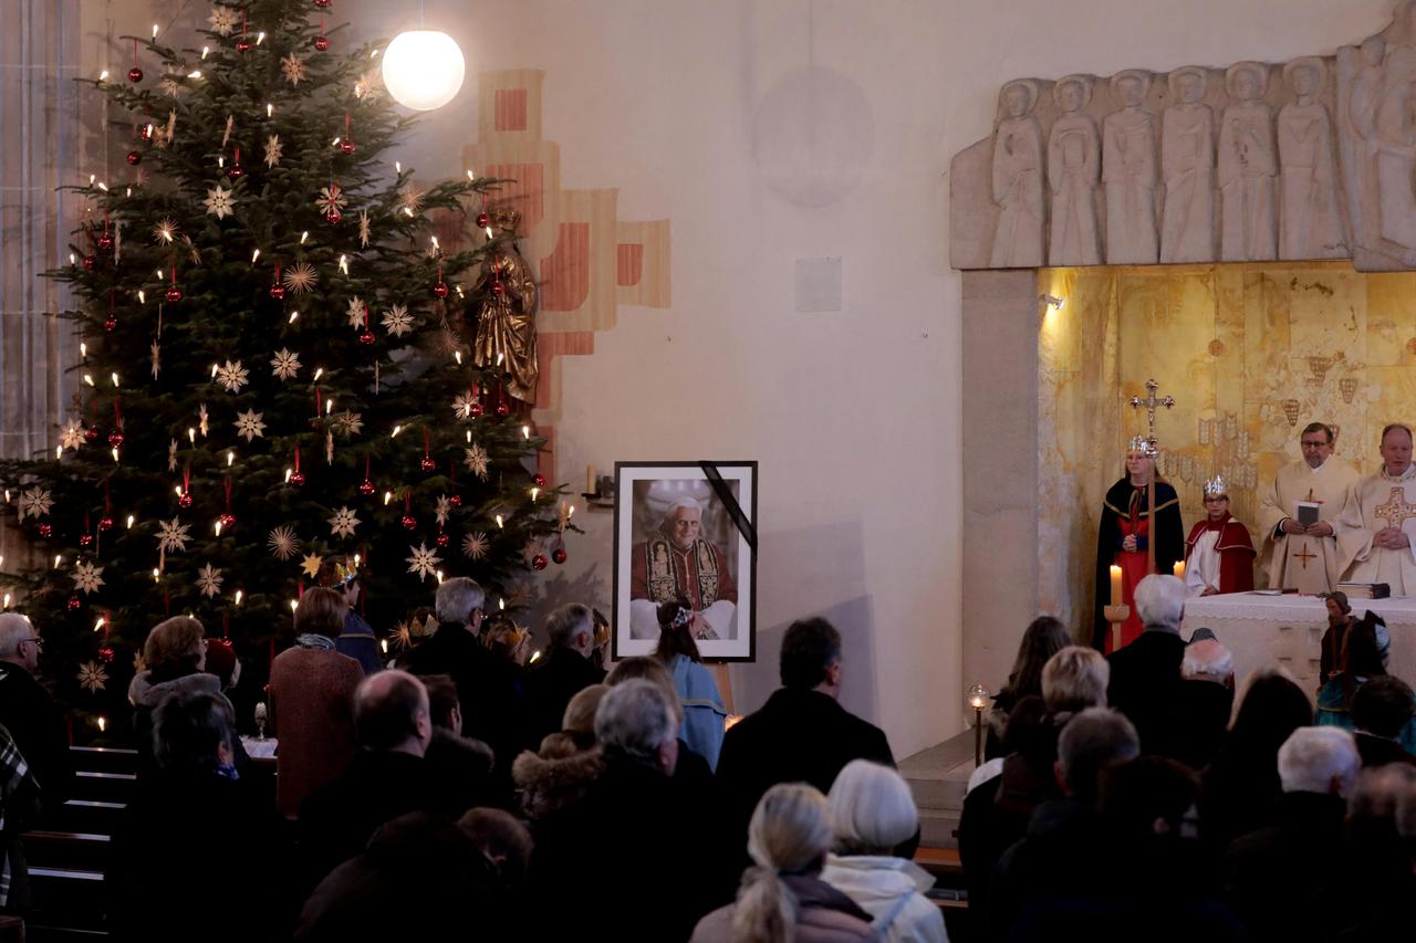
[[888, 766], [851, 760], [827, 803], [835, 842], [821, 881], [861, 905], [884, 943], [947, 943], [944, 915], [925, 896], [935, 879], [893, 854], [919, 828], [909, 783]]

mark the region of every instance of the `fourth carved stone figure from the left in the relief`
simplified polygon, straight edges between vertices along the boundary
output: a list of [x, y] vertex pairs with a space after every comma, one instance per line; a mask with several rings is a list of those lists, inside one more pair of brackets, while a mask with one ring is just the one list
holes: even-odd
[[1209, 75], [1198, 65], [1167, 79], [1174, 105], [1161, 118], [1165, 215], [1161, 262], [1215, 259], [1215, 113], [1202, 102]]

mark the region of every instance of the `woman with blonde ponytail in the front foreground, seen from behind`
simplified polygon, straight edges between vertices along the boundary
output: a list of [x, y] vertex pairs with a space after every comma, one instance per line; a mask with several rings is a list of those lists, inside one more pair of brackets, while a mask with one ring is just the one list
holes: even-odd
[[756, 867], [742, 875], [738, 902], [694, 927], [690, 943], [852, 943], [875, 940], [871, 916], [821, 881], [831, 848], [826, 796], [806, 783], [769, 789], [748, 825]]

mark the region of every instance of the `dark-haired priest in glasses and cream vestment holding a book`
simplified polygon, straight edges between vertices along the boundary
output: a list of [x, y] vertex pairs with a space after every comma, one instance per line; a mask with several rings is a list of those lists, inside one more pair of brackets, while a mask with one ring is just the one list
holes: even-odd
[[[1269, 586], [1300, 593], [1331, 592], [1342, 579], [1351, 554], [1338, 535], [1361, 527], [1357, 490], [1361, 479], [1352, 466], [1332, 457], [1332, 429], [1308, 423], [1298, 438], [1303, 457], [1274, 476], [1259, 505]], [[1318, 505], [1317, 522], [1298, 522], [1298, 501]]]

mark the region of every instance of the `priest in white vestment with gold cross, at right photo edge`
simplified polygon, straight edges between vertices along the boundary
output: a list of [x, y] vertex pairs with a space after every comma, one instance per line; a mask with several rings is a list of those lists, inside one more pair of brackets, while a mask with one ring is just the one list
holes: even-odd
[[1416, 595], [1416, 467], [1406, 426], [1382, 430], [1382, 470], [1362, 480], [1358, 504], [1362, 527], [1340, 535], [1352, 555], [1348, 579], [1386, 583], [1392, 596]]

